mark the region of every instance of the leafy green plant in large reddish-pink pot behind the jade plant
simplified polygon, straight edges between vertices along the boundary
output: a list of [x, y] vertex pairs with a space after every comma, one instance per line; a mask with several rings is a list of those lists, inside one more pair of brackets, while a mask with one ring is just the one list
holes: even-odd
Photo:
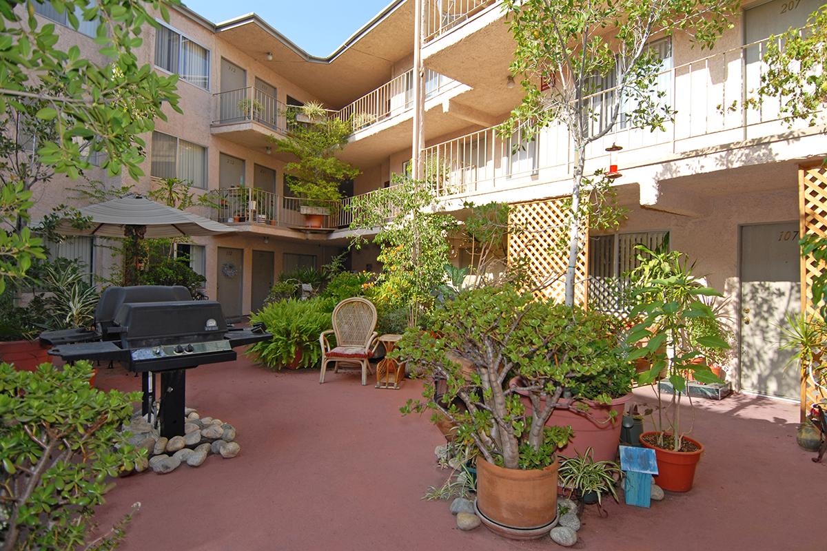
[[[584, 373], [569, 382], [576, 394], [564, 395], [546, 421], [548, 426], [571, 426], [574, 436], [562, 454], [586, 454], [598, 461], [612, 461], [617, 457], [620, 429], [627, 402], [632, 399], [633, 363], [626, 358], [622, 343], [615, 335], [622, 334], [622, 322], [614, 316], [590, 312], [587, 316], [595, 338], [591, 353], [602, 362], [599, 373]], [[526, 382], [520, 376], [509, 381], [528, 412], [532, 411]]]

